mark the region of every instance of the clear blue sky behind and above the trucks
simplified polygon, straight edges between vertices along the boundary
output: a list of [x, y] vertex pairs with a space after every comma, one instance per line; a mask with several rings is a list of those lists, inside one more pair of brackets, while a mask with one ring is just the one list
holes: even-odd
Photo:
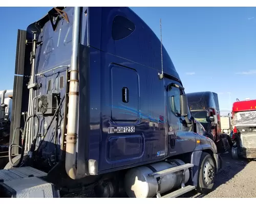
[[[158, 37], [162, 18], [163, 44], [186, 92], [217, 92], [221, 110], [230, 110], [230, 102], [236, 98], [256, 98], [252, 89], [256, 76], [256, 8], [132, 9]], [[44, 7], [0, 8], [0, 90], [13, 88], [17, 29], [26, 30], [48, 11]]]

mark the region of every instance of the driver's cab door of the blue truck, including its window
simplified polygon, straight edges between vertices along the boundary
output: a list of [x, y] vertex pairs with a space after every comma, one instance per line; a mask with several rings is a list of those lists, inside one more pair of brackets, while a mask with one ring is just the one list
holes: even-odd
[[[179, 82], [166, 81], [168, 156], [174, 156], [193, 151], [196, 137], [193, 123], [187, 124], [185, 117], [181, 116], [180, 95], [184, 94], [184, 88]], [[187, 117], [191, 118], [190, 111]]]

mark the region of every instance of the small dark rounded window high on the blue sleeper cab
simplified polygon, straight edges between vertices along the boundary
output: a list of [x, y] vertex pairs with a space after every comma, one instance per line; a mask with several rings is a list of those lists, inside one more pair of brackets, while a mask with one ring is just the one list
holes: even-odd
[[112, 38], [123, 39], [131, 35], [135, 30], [135, 24], [123, 16], [116, 16], [112, 24]]

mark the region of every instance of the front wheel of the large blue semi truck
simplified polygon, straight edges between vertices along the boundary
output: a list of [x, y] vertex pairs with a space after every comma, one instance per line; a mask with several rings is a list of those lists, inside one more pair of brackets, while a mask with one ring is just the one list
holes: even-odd
[[215, 170], [214, 159], [208, 153], [202, 152], [198, 172], [198, 193], [207, 194], [212, 191], [215, 183]]

